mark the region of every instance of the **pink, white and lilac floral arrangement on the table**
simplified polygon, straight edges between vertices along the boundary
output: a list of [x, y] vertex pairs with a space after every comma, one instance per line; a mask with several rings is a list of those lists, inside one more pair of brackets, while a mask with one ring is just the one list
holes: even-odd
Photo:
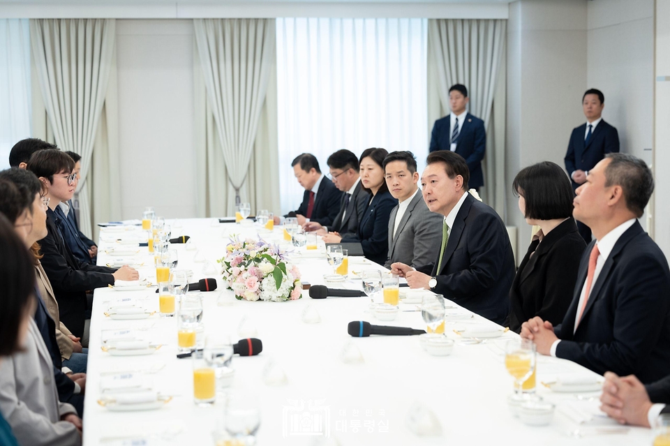
[[238, 300], [284, 302], [302, 297], [300, 272], [285, 260], [278, 246], [262, 239], [232, 236], [221, 263], [223, 280]]

